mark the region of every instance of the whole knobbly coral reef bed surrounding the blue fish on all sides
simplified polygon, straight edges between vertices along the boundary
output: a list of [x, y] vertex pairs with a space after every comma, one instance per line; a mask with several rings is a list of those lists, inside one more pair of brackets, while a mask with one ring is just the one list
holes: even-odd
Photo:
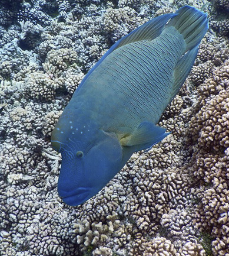
[[160, 119], [171, 134], [84, 205], [57, 194], [61, 156], [50, 136], [85, 73], [120, 37], [184, 4], [220, 13], [207, 0], [1, 1], [2, 256], [229, 254], [227, 17], [210, 20]]

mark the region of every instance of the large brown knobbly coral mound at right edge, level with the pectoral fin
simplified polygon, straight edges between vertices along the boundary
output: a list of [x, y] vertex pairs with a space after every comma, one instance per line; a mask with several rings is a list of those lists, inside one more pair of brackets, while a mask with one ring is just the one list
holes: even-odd
[[[214, 148], [229, 146], [229, 66], [218, 67], [213, 79], [208, 79], [199, 89], [203, 107], [191, 122], [190, 132], [198, 137], [200, 147]], [[208, 97], [207, 97], [208, 96]]]

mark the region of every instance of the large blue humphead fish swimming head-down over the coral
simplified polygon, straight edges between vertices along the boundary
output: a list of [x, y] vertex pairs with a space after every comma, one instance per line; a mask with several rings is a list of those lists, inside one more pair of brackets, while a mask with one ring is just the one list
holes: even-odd
[[184, 6], [121, 38], [89, 70], [51, 137], [62, 155], [58, 193], [67, 205], [96, 195], [132, 153], [168, 135], [156, 124], [207, 30], [207, 14]]

